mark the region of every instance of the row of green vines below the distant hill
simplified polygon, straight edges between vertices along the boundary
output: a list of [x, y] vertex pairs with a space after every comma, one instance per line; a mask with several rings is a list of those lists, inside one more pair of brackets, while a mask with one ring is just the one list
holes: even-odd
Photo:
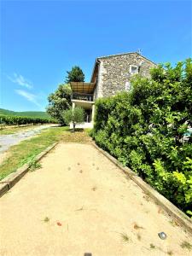
[[55, 123], [54, 119], [13, 116], [0, 114], [0, 125], [30, 125]]

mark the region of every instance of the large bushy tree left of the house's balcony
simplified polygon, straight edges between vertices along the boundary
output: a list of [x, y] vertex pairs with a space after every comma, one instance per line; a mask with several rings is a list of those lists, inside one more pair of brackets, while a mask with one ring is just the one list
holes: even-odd
[[47, 113], [54, 119], [57, 119], [61, 125], [65, 125], [62, 118], [62, 111], [71, 107], [72, 90], [68, 84], [60, 84], [54, 93], [48, 97], [49, 105]]

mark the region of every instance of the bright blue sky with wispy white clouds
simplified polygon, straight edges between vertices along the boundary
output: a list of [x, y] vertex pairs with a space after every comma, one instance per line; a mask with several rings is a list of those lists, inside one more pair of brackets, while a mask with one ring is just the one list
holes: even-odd
[[97, 56], [142, 49], [174, 65], [192, 56], [191, 1], [0, 1], [1, 107], [42, 111], [47, 96]]

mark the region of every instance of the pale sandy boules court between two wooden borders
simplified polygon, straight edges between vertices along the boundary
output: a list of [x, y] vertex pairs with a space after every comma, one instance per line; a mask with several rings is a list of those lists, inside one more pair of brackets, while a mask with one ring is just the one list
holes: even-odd
[[189, 234], [92, 145], [60, 143], [41, 164], [0, 199], [1, 256], [191, 255]]

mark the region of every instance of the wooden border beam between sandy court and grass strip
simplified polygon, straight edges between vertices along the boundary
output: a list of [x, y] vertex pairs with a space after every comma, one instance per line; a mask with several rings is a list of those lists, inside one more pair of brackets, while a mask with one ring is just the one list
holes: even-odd
[[[55, 148], [57, 144], [58, 142], [53, 143], [48, 148], [45, 148], [44, 151], [36, 155], [36, 157], [33, 160], [35, 161], [41, 160], [44, 157], [44, 155], [48, 154], [49, 151]], [[4, 177], [0, 181], [0, 197], [2, 197], [6, 192], [8, 192], [9, 189], [11, 189], [15, 185], [15, 183], [18, 183], [20, 181], [20, 178], [24, 177], [26, 175], [26, 172], [29, 171], [29, 168], [30, 168], [30, 163], [26, 163], [24, 166], [21, 166], [20, 168], [18, 168], [15, 172], [12, 172], [7, 177]]]

